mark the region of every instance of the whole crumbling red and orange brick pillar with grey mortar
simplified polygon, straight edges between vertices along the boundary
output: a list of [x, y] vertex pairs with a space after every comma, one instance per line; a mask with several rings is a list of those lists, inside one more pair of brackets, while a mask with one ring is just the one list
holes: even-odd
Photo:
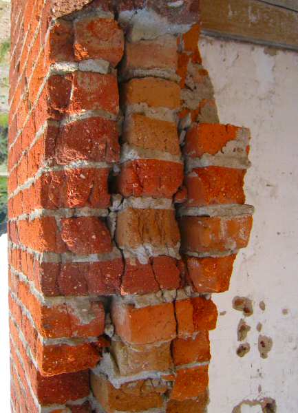
[[198, 1], [12, 1], [14, 413], [206, 411], [253, 207], [199, 35]]

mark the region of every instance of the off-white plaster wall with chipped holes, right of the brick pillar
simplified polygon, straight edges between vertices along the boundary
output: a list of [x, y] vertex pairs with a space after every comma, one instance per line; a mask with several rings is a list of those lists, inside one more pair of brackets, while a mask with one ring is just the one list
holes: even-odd
[[[244, 400], [275, 399], [277, 412], [298, 412], [298, 54], [233, 41], [202, 38], [221, 123], [251, 129], [252, 167], [246, 202], [255, 206], [248, 248], [234, 266], [231, 288], [213, 295], [220, 312], [211, 332], [209, 413], [231, 413]], [[236, 295], [253, 300], [247, 342], [236, 355], [242, 313]], [[259, 308], [264, 301], [266, 309]], [[284, 314], [283, 313], [287, 313]], [[259, 356], [257, 323], [273, 339], [267, 359]], [[261, 413], [243, 404], [240, 412]]]

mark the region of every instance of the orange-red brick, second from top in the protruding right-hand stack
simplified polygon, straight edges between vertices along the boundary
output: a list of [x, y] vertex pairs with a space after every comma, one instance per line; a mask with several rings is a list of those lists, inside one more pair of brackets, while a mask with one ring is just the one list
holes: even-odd
[[245, 169], [197, 168], [186, 176], [187, 207], [209, 204], [244, 204]]

